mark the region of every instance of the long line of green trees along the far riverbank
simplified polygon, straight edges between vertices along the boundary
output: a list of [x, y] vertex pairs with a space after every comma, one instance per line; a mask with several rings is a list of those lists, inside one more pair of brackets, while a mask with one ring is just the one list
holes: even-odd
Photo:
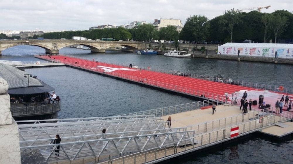
[[293, 39], [293, 14], [285, 10], [273, 13], [248, 13], [238, 10], [227, 10], [212, 20], [204, 15], [193, 15], [186, 19], [182, 31], [168, 26], [155, 29], [152, 24], [139, 25], [136, 28], [124, 27], [93, 29], [83, 31], [63, 31], [42, 34], [45, 39], [72, 39], [72, 36], [83, 36], [88, 39], [113, 38], [149, 42], [152, 40], [189, 41], [194, 43], [242, 42], [246, 39], [256, 43], [268, 43], [270, 39], [278, 43], [281, 39]]

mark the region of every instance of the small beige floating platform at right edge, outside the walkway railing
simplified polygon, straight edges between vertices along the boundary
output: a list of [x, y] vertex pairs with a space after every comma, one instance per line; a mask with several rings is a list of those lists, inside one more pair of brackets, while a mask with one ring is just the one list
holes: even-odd
[[263, 130], [260, 130], [261, 133], [271, 135], [274, 137], [284, 137], [286, 135], [292, 134], [293, 133], [293, 122], [285, 122], [285, 125], [288, 125], [285, 128], [282, 128], [280, 126], [274, 125], [269, 128], [265, 128]]

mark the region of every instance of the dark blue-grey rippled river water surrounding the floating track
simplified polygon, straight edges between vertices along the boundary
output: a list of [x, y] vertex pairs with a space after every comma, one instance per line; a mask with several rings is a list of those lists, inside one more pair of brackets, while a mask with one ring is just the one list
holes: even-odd
[[[85, 57], [118, 65], [138, 65], [162, 70], [216, 76], [292, 88], [293, 67], [285, 64], [237, 62], [213, 59], [180, 59], [131, 53], [90, 53], [89, 50], [62, 48], [60, 54]], [[39, 61], [33, 55], [45, 54], [36, 46], [15, 46], [2, 51], [0, 60]], [[145, 88], [124, 81], [68, 67], [25, 69], [55, 88], [62, 100], [58, 118], [115, 116], [194, 100]], [[293, 137], [282, 141], [259, 135], [171, 163], [293, 163]]]

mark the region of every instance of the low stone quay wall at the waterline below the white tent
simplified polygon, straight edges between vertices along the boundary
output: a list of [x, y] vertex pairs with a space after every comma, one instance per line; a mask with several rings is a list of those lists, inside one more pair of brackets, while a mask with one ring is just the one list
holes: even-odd
[[[193, 57], [197, 58], [209, 58], [209, 59], [221, 59], [221, 60], [238, 60], [237, 55], [217, 55], [217, 54], [193, 54]], [[275, 63], [276, 60], [273, 57], [257, 57], [257, 56], [241, 56], [240, 61], [249, 62], [265, 62], [265, 63]], [[277, 63], [281, 64], [293, 64], [293, 59], [287, 58], [277, 58]]]

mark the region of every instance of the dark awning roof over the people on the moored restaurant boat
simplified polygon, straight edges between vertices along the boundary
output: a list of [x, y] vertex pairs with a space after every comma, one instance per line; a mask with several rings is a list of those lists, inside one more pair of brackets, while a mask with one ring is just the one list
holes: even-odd
[[43, 86], [29, 86], [29, 87], [8, 89], [8, 93], [14, 94], [14, 95], [28, 95], [28, 94], [45, 93], [45, 92], [50, 92], [54, 90], [54, 88], [44, 83], [43, 81], [40, 81], [40, 82], [42, 83]]

